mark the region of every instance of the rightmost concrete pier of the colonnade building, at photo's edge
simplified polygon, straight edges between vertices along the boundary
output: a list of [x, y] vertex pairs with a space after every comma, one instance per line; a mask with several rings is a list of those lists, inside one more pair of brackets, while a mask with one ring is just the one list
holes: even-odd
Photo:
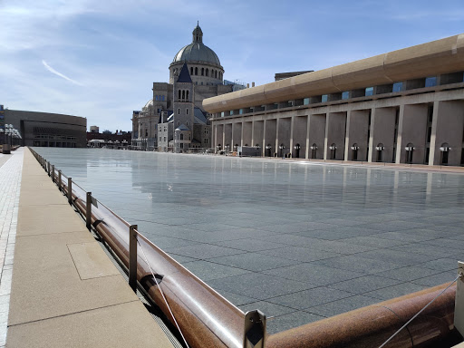
[[[430, 137], [430, 165], [442, 164], [443, 156], [448, 156], [448, 165], [459, 166], [464, 130], [464, 102], [435, 102]], [[440, 147], [448, 146], [448, 154]]]

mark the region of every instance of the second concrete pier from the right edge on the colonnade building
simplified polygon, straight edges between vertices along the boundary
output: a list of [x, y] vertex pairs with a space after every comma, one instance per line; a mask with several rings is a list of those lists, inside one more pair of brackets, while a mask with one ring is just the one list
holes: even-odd
[[[404, 148], [410, 143], [414, 147], [414, 150], [412, 151], [412, 163], [423, 164], [425, 162], [427, 118], [427, 104], [404, 105], [403, 118], [401, 122], [401, 147], [398, 146], [399, 150], [401, 150], [400, 163], [407, 162], [407, 154]], [[462, 132], [462, 129], [460, 131]], [[400, 134], [400, 130], [398, 133]]]

